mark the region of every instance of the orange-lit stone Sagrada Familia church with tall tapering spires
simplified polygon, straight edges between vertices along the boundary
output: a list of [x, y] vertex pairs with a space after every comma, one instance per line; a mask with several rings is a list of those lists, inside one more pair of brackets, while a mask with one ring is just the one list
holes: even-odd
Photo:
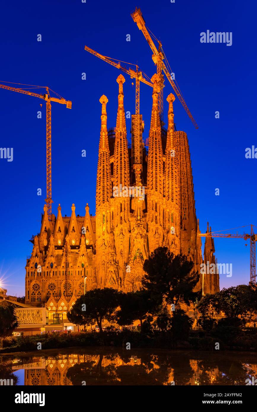
[[[215, 262], [215, 248], [206, 237], [204, 257], [199, 221], [196, 218], [194, 185], [187, 134], [175, 131], [173, 102], [168, 101], [168, 128], [158, 112], [158, 77], [152, 77], [152, 117], [148, 151], [133, 135], [127, 140], [122, 75], [119, 86], [116, 128], [107, 129], [106, 96], [102, 105], [96, 179], [96, 215], [48, 219], [47, 208], [40, 233], [33, 236], [33, 251], [26, 263], [26, 300], [30, 305], [46, 304], [49, 310], [68, 310], [79, 295], [92, 288], [112, 287], [138, 290], [144, 275], [143, 262], [158, 246], [167, 246], [194, 262], [200, 273], [204, 262]], [[207, 228], [207, 230], [209, 230]], [[211, 229], [210, 229], [211, 231]], [[219, 275], [200, 276], [197, 289], [219, 290]]]

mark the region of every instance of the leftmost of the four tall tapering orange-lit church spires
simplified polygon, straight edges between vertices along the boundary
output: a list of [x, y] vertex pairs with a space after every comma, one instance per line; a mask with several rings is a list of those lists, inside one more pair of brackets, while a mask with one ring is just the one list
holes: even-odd
[[107, 133], [107, 112], [106, 104], [108, 99], [105, 95], [101, 96], [102, 105], [101, 131], [98, 152], [98, 165], [96, 176], [96, 209], [111, 197], [111, 168], [110, 168], [110, 151], [108, 145]]

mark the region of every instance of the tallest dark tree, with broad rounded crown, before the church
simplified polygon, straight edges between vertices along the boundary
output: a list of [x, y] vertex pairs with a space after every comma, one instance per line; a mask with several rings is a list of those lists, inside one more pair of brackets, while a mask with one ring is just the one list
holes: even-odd
[[179, 307], [180, 302], [189, 304], [198, 296], [193, 292], [199, 281], [199, 274], [193, 271], [194, 263], [185, 255], [174, 255], [166, 247], [159, 247], [145, 260], [142, 279], [145, 290], [157, 304], [163, 301]]

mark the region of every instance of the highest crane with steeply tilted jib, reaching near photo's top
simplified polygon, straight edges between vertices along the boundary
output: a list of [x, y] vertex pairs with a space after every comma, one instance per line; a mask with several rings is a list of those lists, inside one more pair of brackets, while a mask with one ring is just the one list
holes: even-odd
[[[137, 23], [137, 26], [139, 28], [139, 30], [142, 31], [143, 35], [145, 36], [147, 43], [149, 44], [149, 46], [152, 49], [153, 55], [152, 55], [152, 59], [154, 61], [154, 64], [157, 66], [157, 75], [159, 76], [159, 95], [158, 95], [158, 106], [159, 106], [159, 113], [160, 113], [160, 119], [161, 122], [163, 124], [163, 87], [164, 87], [164, 76], [162, 74], [162, 71], [164, 71], [168, 81], [171, 83], [171, 86], [173, 87], [173, 90], [175, 91], [175, 94], [178, 96], [180, 102], [182, 103], [182, 106], [184, 107], [185, 111], [187, 112], [187, 115], [189, 116], [189, 118], [191, 119], [192, 123], [194, 124], [195, 128], [198, 129], [198, 125], [196, 123], [196, 121], [194, 120], [194, 117], [192, 116], [191, 112], [189, 111], [189, 108], [187, 107], [187, 104], [182, 96], [182, 93], [179, 89], [179, 87], [177, 87], [175, 85], [175, 82], [173, 82], [173, 72], [171, 70], [171, 67], [168, 63], [168, 60], [166, 59], [165, 53], [163, 51], [162, 48], [162, 44], [159, 40], [157, 40], [157, 38], [152, 34], [152, 36], [154, 37], [154, 39], [159, 43], [159, 47], [157, 50], [157, 47], [154, 44], [154, 41], [152, 40], [152, 37], [149, 33], [149, 31], [147, 30], [146, 26], [145, 26], [145, 20], [143, 19], [143, 15], [140, 9], [137, 9], [131, 13], [131, 17], [133, 19], [133, 21], [135, 23]], [[152, 32], [151, 32], [152, 33]], [[166, 65], [164, 63], [164, 61], [166, 61], [167, 66], [169, 67], [170, 71], [166, 68]]]

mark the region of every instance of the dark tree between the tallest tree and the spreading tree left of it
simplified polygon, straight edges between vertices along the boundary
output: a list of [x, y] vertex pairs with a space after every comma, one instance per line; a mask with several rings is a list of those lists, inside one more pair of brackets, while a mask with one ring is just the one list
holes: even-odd
[[143, 321], [149, 320], [149, 313], [154, 307], [154, 301], [147, 290], [123, 293], [120, 297], [120, 310], [117, 311], [119, 325], [131, 325], [137, 319], [140, 321], [143, 332]]

